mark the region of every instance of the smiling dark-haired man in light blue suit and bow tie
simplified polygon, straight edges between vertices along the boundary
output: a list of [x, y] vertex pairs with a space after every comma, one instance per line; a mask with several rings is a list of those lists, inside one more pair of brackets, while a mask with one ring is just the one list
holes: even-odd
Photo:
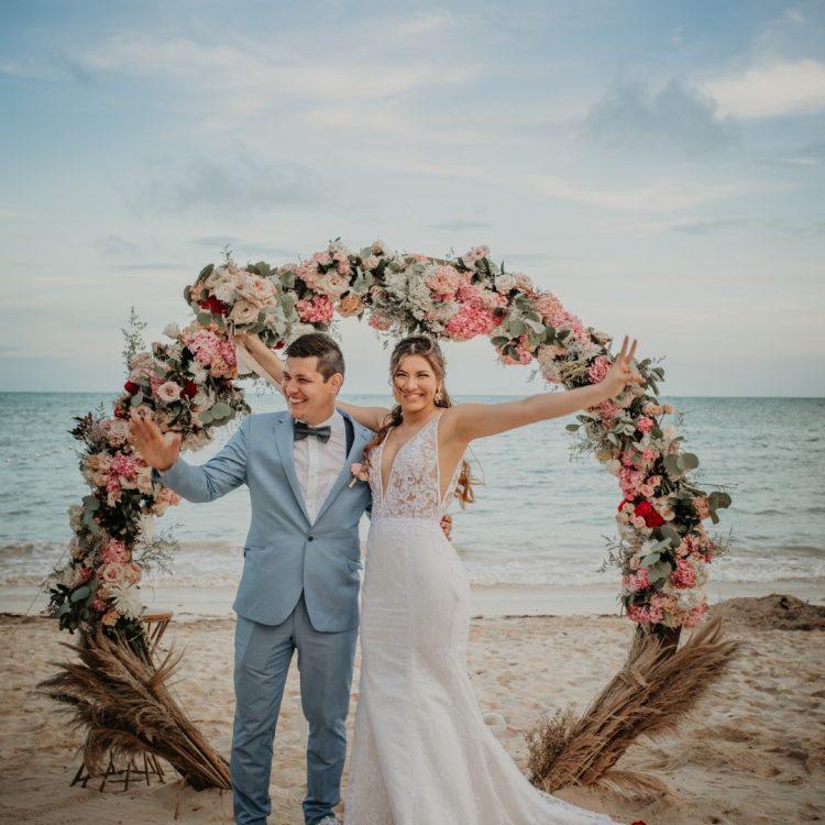
[[252, 522], [233, 608], [235, 717], [231, 777], [238, 825], [265, 825], [273, 738], [293, 653], [309, 723], [307, 825], [333, 825], [346, 752], [358, 635], [359, 520], [370, 487], [351, 484], [373, 432], [336, 409], [344, 362], [322, 333], [286, 349], [287, 413], [248, 416], [202, 466], [178, 458], [180, 437], [135, 419], [132, 443], [162, 482], [191, 502], [246, 484]]

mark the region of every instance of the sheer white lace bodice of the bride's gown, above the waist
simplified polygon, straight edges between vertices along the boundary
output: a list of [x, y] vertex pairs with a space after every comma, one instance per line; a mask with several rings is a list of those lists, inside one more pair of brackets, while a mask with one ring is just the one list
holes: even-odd
[[[373, 518], [426, 518], [440, 520], [455, 493], [461, 462], [455, 468], [441, 498], [441, 473], [438, 459], [438, 422], [443, 413], [428, 421], [396, 454], [387, 477], [382, 483], [384, 444], [375, 449], [370, 462], [370, 487], [373, 493]], [[388, 435], [388, 433], [387, 433]]]

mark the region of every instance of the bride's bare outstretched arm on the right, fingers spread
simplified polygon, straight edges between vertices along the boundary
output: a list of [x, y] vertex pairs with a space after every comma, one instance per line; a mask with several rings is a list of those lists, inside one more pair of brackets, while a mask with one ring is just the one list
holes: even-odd
[[[506, 404], [461, 404], [452, 407], [450, 424], [457, 439], [470, 442], [476, 438], [524, 427], [548, 418], [559, 418], [579, 409], [594, 407], [615, 398], [628, 384], [641, 384], [644, 378], [631, 364], [636, 340], [628, 349], [628, 339], [622, 344], [613, 366], [598, 384], [569, 389], [564, 393], [542, 393]], [[444, 420], [447, 424], [448, 419]]]

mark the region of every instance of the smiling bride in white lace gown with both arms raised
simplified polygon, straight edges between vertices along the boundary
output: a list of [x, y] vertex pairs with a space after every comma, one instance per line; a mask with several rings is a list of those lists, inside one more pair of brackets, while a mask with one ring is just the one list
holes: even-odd
[[[279, 359], [243, 343], [279, 380]], [[600, 384], [452, 406], [441, 350], [413, 336], [391, 358], [392, 410], [338, 404], [376, 432], [364, 451], [373, 507], [346, 825], [613, 822], [535, 789], [485, 726], [465, 667], [470, 583], [439, 522], [453, 497], [473, 501], [471, 441], [615, 397], [642, 381], [635, 351], [625, 338]]]

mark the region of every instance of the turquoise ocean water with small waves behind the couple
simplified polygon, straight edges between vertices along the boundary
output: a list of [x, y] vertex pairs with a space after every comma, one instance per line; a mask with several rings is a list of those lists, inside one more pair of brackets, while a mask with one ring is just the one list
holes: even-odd
[[[272, 392], [248, 394], [255, 411], [282, 409]], [[387, 404], [383, 396], [344, 396]], [[459, 397], [498, 403], [505, 397]], [[734, 506], [715, 528], [730, 552], [712, 581], [774, 582], [825, 575], [825, 399], [667, 398], [684, 417], [686, 446], [701, 461], [701, 482], [722, 485]], [[0, 585], [35, 584], [65, 559], [67, 508], [88, 492], [78, 471], [73, 417], [111, 396], [82, 393], [0, 394]], [[574, 457], [572, 419], [557, 419], [484, 439], [469, 455], [476, 503], [452, 508], [453, 543], [475, 583], [593, 584], [605, 537], [615, 536], [616, 480], [593, 457]], [[218, 435], [201, 463], [231, 436]], [[211, 504], [184, 503], [158, 521], [180, 546], [172, 579], [185, 586], [234, 584], [249, 524], [245, 488]], [[362, 520], [365, 538], [369, 521]], [[168, 581], [154, 574], [150, 582]]]

